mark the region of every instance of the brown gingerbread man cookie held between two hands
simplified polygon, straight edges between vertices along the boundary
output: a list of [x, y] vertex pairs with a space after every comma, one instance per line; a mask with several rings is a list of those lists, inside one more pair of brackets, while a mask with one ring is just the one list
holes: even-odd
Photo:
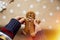
[[[32, 11], [27, 12], [25, 19], [25, 28], [23, 29], [23, 33], [29, 34], [31, 36], [35, 36], [35, 13]], [[40, 23], [40, 21], [38, 22]]]

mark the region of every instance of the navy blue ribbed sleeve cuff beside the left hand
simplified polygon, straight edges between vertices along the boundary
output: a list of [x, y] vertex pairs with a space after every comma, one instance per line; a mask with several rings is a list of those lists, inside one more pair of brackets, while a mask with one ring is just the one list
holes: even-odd
[[20, 27], [21, 23], [16, 19], [11, 19], [11, 21], [5, 26], [7, 30], [13, 32], [14, 34], [16, 34]]

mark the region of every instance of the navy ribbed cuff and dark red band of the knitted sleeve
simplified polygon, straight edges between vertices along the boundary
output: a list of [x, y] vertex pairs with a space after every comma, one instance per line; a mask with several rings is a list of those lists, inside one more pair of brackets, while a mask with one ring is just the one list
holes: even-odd
[[20, 27], [21, 23], [19, 21], [11, 19], [11, 21], [4, 28], [2, 28], [1, 31], [14, 38]]

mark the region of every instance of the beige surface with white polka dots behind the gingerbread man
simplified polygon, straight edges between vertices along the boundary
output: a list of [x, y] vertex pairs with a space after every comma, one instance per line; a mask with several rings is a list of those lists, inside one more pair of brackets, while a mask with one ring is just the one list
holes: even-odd
[[[2, 12], [3, 14], [0, 13], [1, 23], [4, 21], [2, 19], [8, 20], [13, 16], [25, 16], [28, 11], [35, 12], [36, 18], [40, 19], [42, 25], [44, 23], [50, 25], [48, 29], [53, 29], [54, 24], [60, 23], [60, 3], [58, 0], [15, 0], [10, 4], [1, 0], [0, 12], [5, 8], [7, 9]], [[6, 23], [7, 21], [4, 24]], [[51, 27], [51, 25], [53, 26]]]

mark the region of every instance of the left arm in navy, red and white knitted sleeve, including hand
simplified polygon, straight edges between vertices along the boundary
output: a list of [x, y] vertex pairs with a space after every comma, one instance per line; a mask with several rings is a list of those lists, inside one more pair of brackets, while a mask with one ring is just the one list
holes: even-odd
[[11, 19], [11, 21], [0, 30], [0, 35], [6, 37], [8, 40], [12, 40], [21, 27], [21, 23], [24, 21], [24, 19], [19, 19], [18, 17]]

